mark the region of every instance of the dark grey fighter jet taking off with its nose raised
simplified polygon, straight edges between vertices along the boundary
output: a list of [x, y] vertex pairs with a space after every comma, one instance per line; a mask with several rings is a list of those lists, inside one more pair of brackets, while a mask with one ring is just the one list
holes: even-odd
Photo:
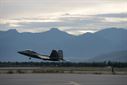
[[52, 50], [50, 55], [42, 55], [32, 50], [25, 50], [25, 51], [18, 51], [19, 54], [28, 56], [29, 59], [37, 58], [42, 60], [49, 60], [49, 61], [64, 61], [63, 59], [63, 51], [62, 50]]

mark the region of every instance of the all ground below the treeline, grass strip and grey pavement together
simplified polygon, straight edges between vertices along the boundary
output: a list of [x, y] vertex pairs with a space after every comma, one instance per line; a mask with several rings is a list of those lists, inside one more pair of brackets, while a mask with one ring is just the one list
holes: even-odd
[[0, 67], [0, 85], [127, 85], [127, 68]]

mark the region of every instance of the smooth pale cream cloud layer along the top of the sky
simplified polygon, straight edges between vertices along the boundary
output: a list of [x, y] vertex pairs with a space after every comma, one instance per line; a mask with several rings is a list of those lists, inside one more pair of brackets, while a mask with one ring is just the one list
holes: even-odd
[[127, 12], [125, 0], [1, 0], [3, 18], [57, 16], [58, 14], [106, 14]]

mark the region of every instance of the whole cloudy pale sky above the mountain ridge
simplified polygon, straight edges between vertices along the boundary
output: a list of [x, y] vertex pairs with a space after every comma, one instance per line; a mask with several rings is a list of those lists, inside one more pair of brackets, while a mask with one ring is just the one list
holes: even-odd
[[0, 0], [0, 30], [79, 35], [111, 27], [127, 29], [127, 0]]

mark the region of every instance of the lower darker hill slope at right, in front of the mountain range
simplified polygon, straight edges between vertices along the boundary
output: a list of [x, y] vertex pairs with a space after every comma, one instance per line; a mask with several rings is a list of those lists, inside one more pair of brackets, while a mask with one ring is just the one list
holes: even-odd
[[114, 61], [114, 62], [127, 62], [127, 51], [116, 51], [100, 56], [96, 56], [89, 61], [99, 62], [99, 61]]

